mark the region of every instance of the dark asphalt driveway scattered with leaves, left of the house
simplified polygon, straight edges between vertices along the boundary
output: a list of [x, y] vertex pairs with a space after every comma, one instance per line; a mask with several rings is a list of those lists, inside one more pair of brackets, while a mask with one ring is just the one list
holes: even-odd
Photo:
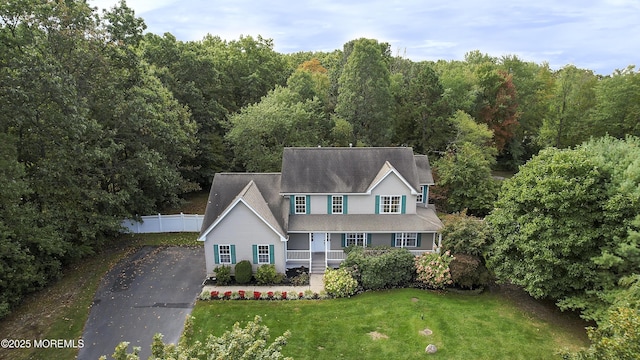
[[120, 262], [96, 292], [78, 359], [111, 359], [122, 341], [147, 359], [156, 333], [177, 343], [205, 275], [202, 248], [144, 247]]

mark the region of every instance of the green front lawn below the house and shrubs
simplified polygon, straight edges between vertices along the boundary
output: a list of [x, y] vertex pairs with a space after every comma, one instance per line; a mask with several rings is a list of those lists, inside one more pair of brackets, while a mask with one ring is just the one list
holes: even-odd
[[[294, 359], [417, 359], [428, 344], [438, 347], [434, 359], [549, 359], [588, 345], [583, 334], [492, 293], [398, 289], [324, 301], [200, 301], [192, 315], [190, 341], [260, 315], [272, 340], [291, 331], [283, 353]], [[425, 329], [433, 334], [420, 334]]]

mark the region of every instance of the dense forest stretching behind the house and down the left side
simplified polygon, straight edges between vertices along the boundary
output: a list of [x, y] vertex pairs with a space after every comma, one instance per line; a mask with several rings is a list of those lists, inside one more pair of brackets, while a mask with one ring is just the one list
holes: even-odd
[[434, 161], [443, 210], [486, 215], [491, 169], [640, 136], [633, 66], [602, 76], [480, 51], [414, 62], [373, 39], [280, 54], [260, 36], [145, 30], [124, 2], [0, 6], [0, 317], [108, 246], [122, 219], [219, 171], [278, 171], [284, 146], [411, 146]]

